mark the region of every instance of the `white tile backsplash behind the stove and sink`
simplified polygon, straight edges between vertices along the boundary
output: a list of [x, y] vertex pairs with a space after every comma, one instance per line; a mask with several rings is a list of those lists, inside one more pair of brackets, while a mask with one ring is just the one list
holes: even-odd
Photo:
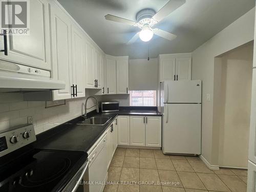
[[[96, 96], [100, 101], [101, 96]], [[22, 93], [0, 94], [0, 133], [11, 127], [28, 123], [28, 117], [33, 116], [36, 134], [47, 131], [61, 123], [84, 114], [82, 103], [86, 98], [66, 100], [66, 105], [45, 109], [45, 101], [24, 101]], [[94, 105], [94, 100], [88, 100], [88, 108]], [[89, 111], [95, 110], [92, 108]]]

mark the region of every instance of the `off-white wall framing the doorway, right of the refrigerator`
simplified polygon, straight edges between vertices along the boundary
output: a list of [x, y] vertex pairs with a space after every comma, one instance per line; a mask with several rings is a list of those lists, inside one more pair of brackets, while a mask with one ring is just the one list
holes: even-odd
[[[254, 38], [255, 8], [209, 39], [193, 54], [192, 79], [202, 79], [202, 156], [212, 165], [218, 164], [219, 141], [213, 129], [213, 93], [215, 57], [239, 47]], [[210, 101], [206, 100], [210, 94]]]

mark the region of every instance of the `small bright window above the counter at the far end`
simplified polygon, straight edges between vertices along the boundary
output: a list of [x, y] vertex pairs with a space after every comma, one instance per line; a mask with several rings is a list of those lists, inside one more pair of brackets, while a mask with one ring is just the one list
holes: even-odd
[[156, 106], [157, 91], [130, 91], [130, 106]]

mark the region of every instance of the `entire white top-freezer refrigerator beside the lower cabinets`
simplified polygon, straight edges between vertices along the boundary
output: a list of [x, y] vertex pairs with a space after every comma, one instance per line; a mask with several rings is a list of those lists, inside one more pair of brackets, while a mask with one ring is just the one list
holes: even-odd
[[201, 154], [201, 92], [201, 80], [160, 83], [164, 154]]

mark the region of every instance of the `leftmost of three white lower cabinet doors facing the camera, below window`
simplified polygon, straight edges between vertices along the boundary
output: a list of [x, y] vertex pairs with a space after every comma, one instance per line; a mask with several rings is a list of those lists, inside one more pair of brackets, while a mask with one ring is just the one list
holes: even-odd
[[118, 144], [130, 145], [130, 116], [118, 116]]

